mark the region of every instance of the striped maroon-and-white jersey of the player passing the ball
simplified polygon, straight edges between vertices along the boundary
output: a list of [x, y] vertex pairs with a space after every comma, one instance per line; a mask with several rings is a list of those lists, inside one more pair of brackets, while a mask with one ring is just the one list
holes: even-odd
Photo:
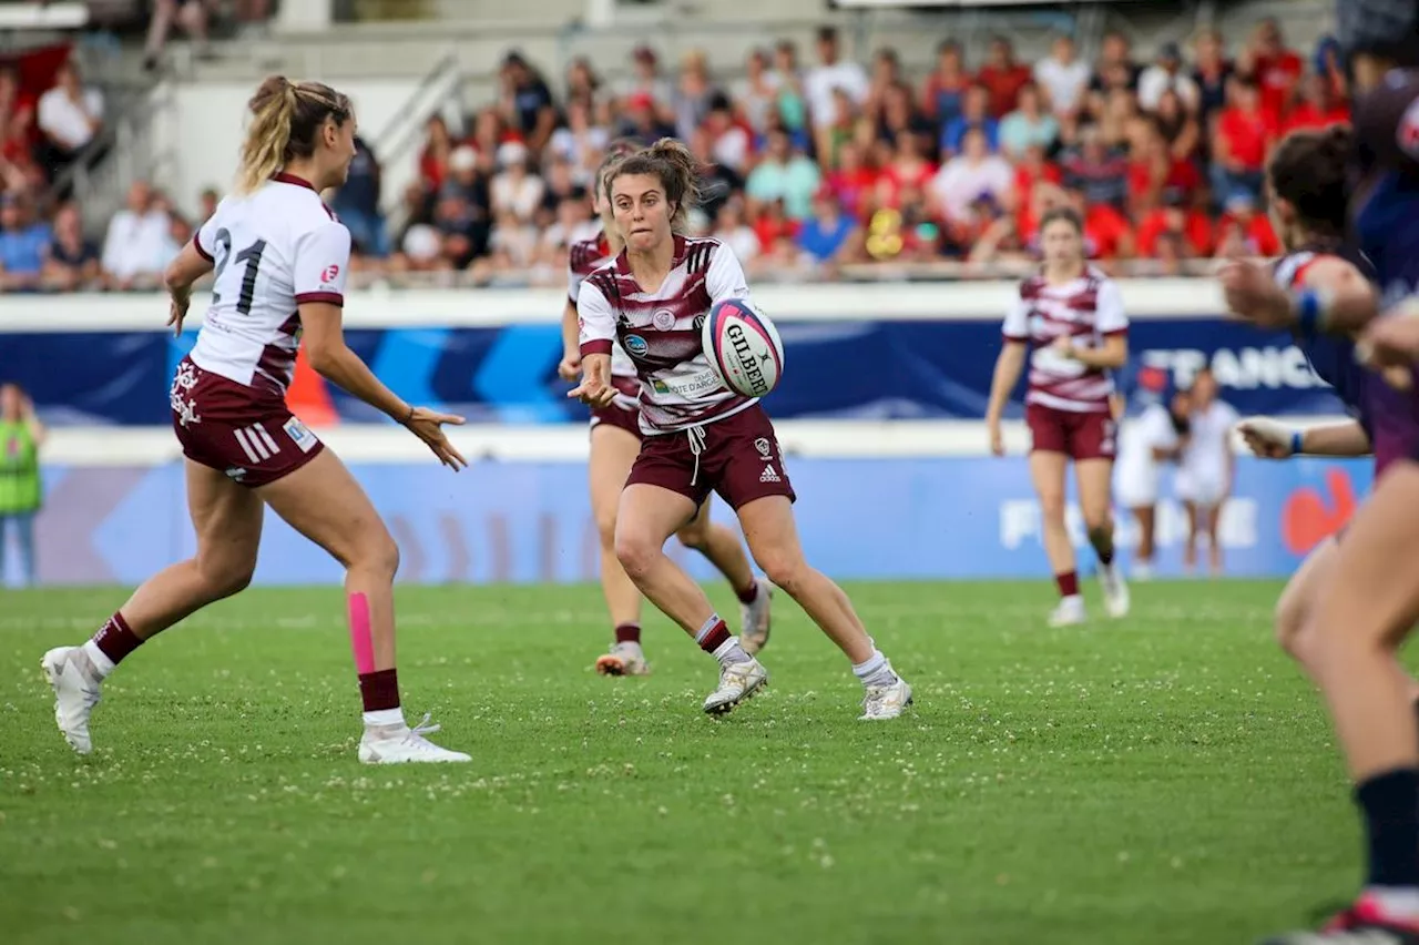
[[724, 420], [758, 403], [719, 382], [700, 343], [710, 306], [727, 298], [749, 299], [749, 285], [718, 240], [677, 236], [670, 274], [654, 292], [636, 282], [624, 253], [582, 282], [582, 355], [609, 355], [620, 342], [640, 376], [647, 436]]

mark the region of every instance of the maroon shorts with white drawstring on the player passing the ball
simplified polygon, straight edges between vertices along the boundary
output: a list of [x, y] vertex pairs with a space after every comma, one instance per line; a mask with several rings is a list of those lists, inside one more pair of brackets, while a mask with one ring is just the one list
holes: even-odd
[[797, 498], [763, 407], [755, 404], [700, 429], [705, 438], [698, 457], [684, 430], [646, 437], [626, 485], [658, 485], [695, 505], [718, 492], [734, 509], [768, 495], [785, 495], [790, 502]]

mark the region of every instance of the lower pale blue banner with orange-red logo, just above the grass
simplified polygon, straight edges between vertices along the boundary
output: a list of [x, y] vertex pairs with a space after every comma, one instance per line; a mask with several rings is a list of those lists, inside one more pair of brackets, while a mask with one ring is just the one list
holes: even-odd
[[[840, 579], [1047, 578], [1040, 509], [1025, 458], [786, 461], [809, 559]], [[475, 463], [458, 475], [433, 463], [352, 464], [399, 541], [400, 579], [583, 582], [597, 573], [597, 535], [576, 463]], [[1237, 463], [1223, 511], [1227, 573], [1284, 576], [1334, 534], [1369, 490], [1364, 460]], [[871, 502], [860, 501], [870, 487]], [[55, 467], [45, 471], [38, 519], [44, 583], [136, 585], [194, 552], [182, 467]], [[1162, 495], [1171, 495], [1165, 481]], [[714, 516], [732, 522], [718, 501]], [[1086, 548], [1078, 509], [1074, 543]], [[257, 582], [338, 583], [339, 566], [274, 515], [267, 516]], [[1185, 515], [1158, 509], [1158, 572], [1178, 575]], [[1121, 559], [1137, 539], [1118, 514]], [[691, 573], [708, 565], [668, 546]], [[1087, 570], [1093, 556], [1080, 560]], [[14, 576], [14, 575], [11, 575]]]

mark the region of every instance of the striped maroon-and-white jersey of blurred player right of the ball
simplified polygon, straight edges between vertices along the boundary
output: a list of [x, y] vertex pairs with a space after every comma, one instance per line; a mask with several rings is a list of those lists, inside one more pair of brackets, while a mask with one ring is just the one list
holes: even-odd
[[[1128, 332], [1124, 299], [1107, 275], [1088, 267], [1084, 275], [1050, 285], [1043, 275], [1020, 282], [1020, 294], [1005, 315], [1005, 338], [1029, 342], [1029, 390], [1025, 403], [1073, 413], [1107, 413], [1114, 379], [1103, 368], [1088, 368], [1051, 350], [1060, 336], [1097, 348], [1104, 338]], [[1080, 342], [1076, 341], [1076, 345]]]

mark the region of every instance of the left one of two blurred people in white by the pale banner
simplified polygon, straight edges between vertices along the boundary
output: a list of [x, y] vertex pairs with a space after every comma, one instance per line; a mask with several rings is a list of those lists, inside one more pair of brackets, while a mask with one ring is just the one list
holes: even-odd
[[[1158, 368], [1138, 372], [1137, 390], [1130, 403], [1115, 411], [1132, 411], [1118, 430], [1118, 461], [1114, 465], [1114, 495], [1138, 524], [1138, 549], [1134, 552], [1130, 578], [1152, 578], [1156, 549], [1158, 480], [1162, 465], [1181, 454], [1186, 434], [1186, 417], [1179, 417], [1166, 400], [1168, 375]], [[1178, 396], [1185, 396], [1179, 392]]]

